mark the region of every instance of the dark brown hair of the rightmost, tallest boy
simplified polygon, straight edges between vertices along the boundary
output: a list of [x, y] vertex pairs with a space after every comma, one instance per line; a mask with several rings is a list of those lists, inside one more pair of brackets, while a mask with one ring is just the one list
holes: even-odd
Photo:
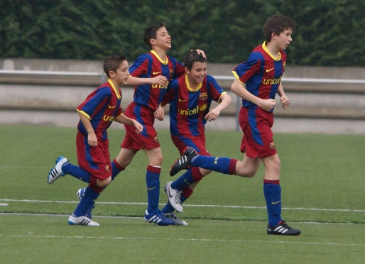
[[271, 41], [271, 34], [275, 33], [275, 35], [280, 35], [286, 29], [292, 28], [295, 29], [297, 23], [290, 18], [289, 16], [284, 16], [281, 14], [271, 16], [263, 25], [263, 34], [265, 35], [265, 41], [268, 43]]

